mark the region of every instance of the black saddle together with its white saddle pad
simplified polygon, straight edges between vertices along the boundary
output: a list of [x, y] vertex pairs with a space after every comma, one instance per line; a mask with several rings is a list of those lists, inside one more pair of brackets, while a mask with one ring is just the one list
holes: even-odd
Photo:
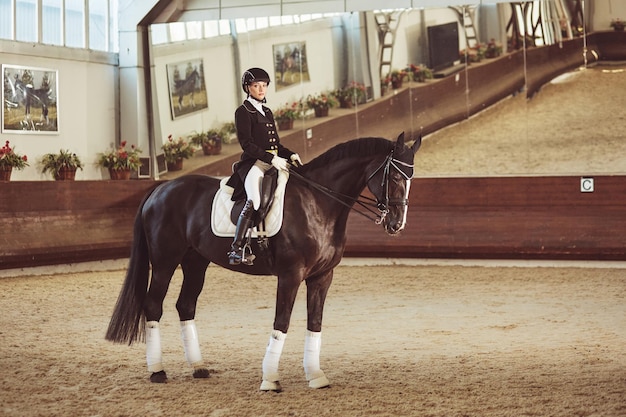
[[[288, 179], [288, 172], [279, 172], [274, 167], [265, 173], [261, 185], [261, 205], [253, 219], [252, 237], [272, 237], [280, 231]], [[245, 193], [244, 198], [232, 201], [235, 189], [226, 184], [228, 180], [226, 177], [220, 182], [211, 210], [211, 229], [218, 237], [235, 236], [239, 213], [246, 203]]]

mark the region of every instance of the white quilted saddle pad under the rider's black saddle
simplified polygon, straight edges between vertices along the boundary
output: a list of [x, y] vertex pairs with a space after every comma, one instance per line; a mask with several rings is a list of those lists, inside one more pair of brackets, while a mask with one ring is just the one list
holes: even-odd
[[[252, 229], [252, 237], [272, 237], [280, 231], [283, 224], [283, 206], [285, 202], [285, 187], [289, 173], [280, 171], [276, 185], [274, 202], [265, 216], [265, 221]], [[213, 199], [211, 210], [211, 229], [218, 237], [234, 237], [237, 226], [230, 220], [230, 212], [235, 204], [231, 201], [234, 189], [226, 185], [228, 177], [220, 182], [220, 189], [217, 190]]]

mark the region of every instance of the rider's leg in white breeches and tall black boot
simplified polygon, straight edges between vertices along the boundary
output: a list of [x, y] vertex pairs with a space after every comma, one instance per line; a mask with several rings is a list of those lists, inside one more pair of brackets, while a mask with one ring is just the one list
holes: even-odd
[[250, 168], [250, 171], [246, 176], [244, 187], [246, 189], [248, 201], [246, 201], [246, 204], [239, 215], [237, 228], [235, 229], [235, 238], [231, 245], [232, 250], [228, 253], [229, 263], [231, 265], [239, 265], [241, 263], [245, 265], [252, 265], [252, 261], [255, 258], [252, 254], [246, 256], [244, 242], [248, 229], [252, 227], [254, 222], [254, 212], [261, 204], [260, 185], [264, 174], [265, 171], [263, 168], [258, 164], [255, 164], [252, 168]]

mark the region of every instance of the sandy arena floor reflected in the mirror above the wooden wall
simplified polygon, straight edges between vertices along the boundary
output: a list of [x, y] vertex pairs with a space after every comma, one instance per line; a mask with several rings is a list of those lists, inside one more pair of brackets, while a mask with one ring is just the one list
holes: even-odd
[[624, 122], [613, 109], [626, 108], [624, 68], [570, 73], [426, 136], [415, 175], [623, 173]]

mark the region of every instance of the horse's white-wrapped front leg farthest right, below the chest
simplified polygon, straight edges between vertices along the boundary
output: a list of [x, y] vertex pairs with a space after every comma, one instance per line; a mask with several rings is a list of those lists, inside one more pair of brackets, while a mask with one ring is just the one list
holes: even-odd
[[307, 332], [304, 339], [304, 358], [302, 365], [309, 387], [325, 388], [330, 385], [320, 367], [322, 347], [322, 315], [328, 289], [333, 280], [333, 270], [323, 275], [310, 277], [307, 285]]

